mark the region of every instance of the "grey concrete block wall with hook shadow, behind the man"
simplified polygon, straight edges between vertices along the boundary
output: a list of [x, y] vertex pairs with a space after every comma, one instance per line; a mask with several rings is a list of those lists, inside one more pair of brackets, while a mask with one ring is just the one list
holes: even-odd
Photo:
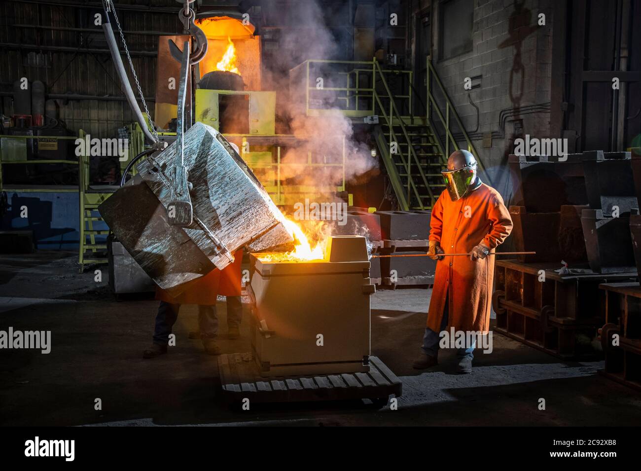
[[[433, 63], [468, 133], [477, 127], [477, 112], [468, 95], [479, 107], [472, 142], [492, 184], [509, 199], [506, 158], [513, 150], [513, 119], [522, 120], [523, 135], [551, 137], [549, 112], [520, 113], [507, 119], [504, 129], [499, 119], [502, 111], [513, 114], [514, 108], [550, 101], [553, 0], [524, 0], [520, 6], [514, 0], [473, 1], [472, 51], [445, 60], [437, 53]], [[545, 26], [538, 26], [539, 13], [545, 14]], [[438, 45], [438, 32], [434, 40]], [[479, 75], [480, 87], [465, 90], [465, 78]], [[483, 147], [486, 133], [492, 133], [491, 148]]]

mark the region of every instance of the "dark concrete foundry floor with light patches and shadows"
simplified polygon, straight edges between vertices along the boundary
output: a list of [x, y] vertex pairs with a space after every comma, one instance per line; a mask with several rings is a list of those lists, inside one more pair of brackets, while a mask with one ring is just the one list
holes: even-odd
[[[203, 354], [188, 306], [169, 354], [142, 359], [157, 302], [116, 301], [93, 270], [78, 273], [74, 252], [0, 256], [0, 329], [51, 330], [50, 354], [0, 351], [0, 425], [388, 425], [637, 426], [641, 395], [599, 376], [602, 362], [563, 362], [499, 334], [494, 352], [477, 354], [474, 372], [452, 374], [444, 351], [429, 372], [411, 363], [426, 320], [430, 290], [381, 290], [372, 297], [372, 353], [403, 380], [399, 408], [362, 401], [277, 404], [249, 411], [217, 400], [217, 363]], [[224, 352], [250, 351], [244, 319]], [[245, 315], [247, 317], [247, 313]], [[100, 398], [103, 408], [94, 409]], [[544, 398], [546, 409], [538, 409]], [[589, 407], [586, 407], [589, 406]]]

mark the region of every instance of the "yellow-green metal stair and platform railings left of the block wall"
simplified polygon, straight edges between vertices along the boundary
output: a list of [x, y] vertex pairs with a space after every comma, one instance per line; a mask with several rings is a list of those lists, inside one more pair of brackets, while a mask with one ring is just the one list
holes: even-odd
[[[304, 112], [306, 115], [320, 116], [338, 111], [352, 118], [369, 115], [380, 117], [388, 131], [384, 135], [377, 135], [376, 140], [381, 153], [383, 153], [383, 160], [392, 187], [403, 209], [412, 206], [410, 204], [412, 199], [417, 201], [419, 208], [428, 208], [435, 201], [437, 195], [433, 192], [433, 188], [441, 188], [444, 185], [430, 181], [434, 178], [440, 179], [440, 173], [430, 173], [424, 167], [438, 166], [438, 164], [442, 164], [444, 167], [447, 156], [460, 149], [459, 143], [454, 138], [453, 126], [458, 126], [456, 134], [463, 136], [467, 150], [474, 154], [479, 163], [479, 170], [485, 174], [485, 178], [489, 182], [485, 167], [479, 159], [474, 144], [467, 135], [456, 108], [447, 95], [429, 56], [426, 56], [426, 63], [428, 71], [426, 77], [427, 103], [424, 104], [426, 114], [422, 116], [415, 116], [413, 112], [415, 96], [412, 86], [412, 70], [383, 69], [376, 58], [373, 58], [372, 61], [308, 60], [292, 69], [295, 82], [304, 83]], [[316, 70], [315, 66], [319, 66], [319, 70]], [[314, 77], [315, 72], [317, 77]], [[332, 80], [331, 74], [345, 75], [345, 86], [337, 86], [342, 79]], [[391, 74], [408, 79], [406, 93], [392, 93], [392, 88], [388, 83]], [[331, 87], [324, 86], [326, 85], [325, 79], [329, 80]], [[363, 81], [366, 83], [363, 84]], [[401, 84], [401, 87], [404, 88], [404, 84]], [[415, 122], [424, 124], [426, 132], [415, 134], [408, 131], [407, 126], [415, 124]], [[386, 141], [385, 135], [388, 136], [389, 142]], [[413, 139], [422, 139], [422, 144], [418, 144]], [[392, 154], [388, 150], [390, 142], [399, 144], [397, 153]], [[422, 153], [420, 156], [433, 156], [439, 160], [438, 163], [421, 162], [415, 149], [417, 145], [428, 145], [437, 149], [434, 153]], [[407, 147], [407, 149], [404, 150], [402, 147]], [[399, 175], [397, 169], [399, 164], [395, 160], [403, 167], [406, 183], [403, 183], [401, 175]], [[421, 194], [421, 186], [424, 186], [426, 194]], [[426, 199], [429, 199], [429, 204], [426, 204]]]

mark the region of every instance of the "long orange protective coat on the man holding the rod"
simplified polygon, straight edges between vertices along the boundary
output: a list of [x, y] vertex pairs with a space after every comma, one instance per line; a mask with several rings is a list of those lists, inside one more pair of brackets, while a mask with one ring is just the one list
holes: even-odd
[[[429, 240], [435, 240], [447, 253], [466, 253], [483, 242], [490, 251], [503, 243], [512, 231], [510, 212], [494, 188], [482, 183], [469, 195], [452, 201], [447, 190], [432, 208]], [[491, 290], [494, 283], [494, 256], [483, 260], [445, 257], [437, 261], [428, 327], [440, 332], [449, 294], [447, 327], [457, 331], [487, 333], [490, 324]]]

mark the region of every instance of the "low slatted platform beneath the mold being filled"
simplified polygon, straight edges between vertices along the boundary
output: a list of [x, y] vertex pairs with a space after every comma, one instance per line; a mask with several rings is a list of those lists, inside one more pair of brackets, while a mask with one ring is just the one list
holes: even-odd
[[252, 354], [222, 354], [218, 357], [222, 397], [232, 403], [370, 399], [379, 405], [387, 404], [390, 394], [400, 397], [401, 380], [376, 356], [369, 360], [369, 373], [265, 378]]

